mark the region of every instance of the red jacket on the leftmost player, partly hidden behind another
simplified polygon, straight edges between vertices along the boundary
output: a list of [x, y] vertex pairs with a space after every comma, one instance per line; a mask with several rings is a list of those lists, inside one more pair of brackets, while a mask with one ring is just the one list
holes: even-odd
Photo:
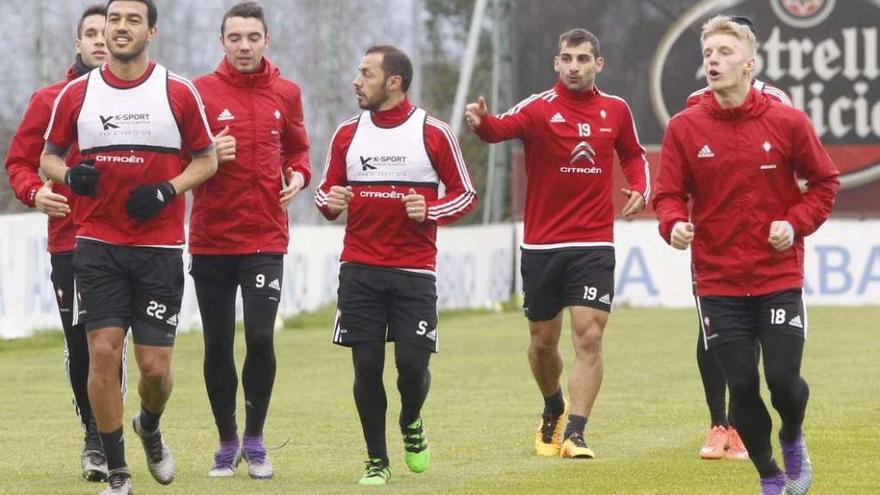
[[[35, 91], [18, 130], [12, 136], [9, 153], [6, 155], [6, 172], [9, 174], [9, 184], [15, 192], [15, 197], [30, 208], [36, 206], [34, 201], [37, 189], [43, 186], [43, 179], [39, 175], [40, 154], [46, 143], [43, 133], [49, 124], [52, 103], [61, 89], [80, 75], [82, 74], [77, 73], [74, 66], [71, 66], [67, 70], [67, 79]], [[68, 164], [76, 164], [79, 161], [79, 149], [76, 144], [68, 151], [66, 161]], [[47, 248], [51, 254], [70, 252], [76, 246], [76, 226], [73, 221], [76, 195], [72, 194], [64, 184], [57, 183], [52, 184], [52, 192], [67, 198], [71, 213], [64, 218], [48, 217]]]

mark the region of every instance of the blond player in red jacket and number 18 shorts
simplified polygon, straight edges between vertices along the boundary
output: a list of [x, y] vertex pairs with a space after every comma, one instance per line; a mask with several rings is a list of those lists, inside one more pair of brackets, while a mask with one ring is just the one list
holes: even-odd
[[[839, 172], [803, 112], [752, 87], [754, 33], [717, 16], [703, 25], [701, 42], [712, 91], [669, 122], [654, 209], [663, 238], [692, 247], [703, 343], [727, 379], [761, 494], [803, 495], [812, 482], [802, 433], [803, 238], [828, 218]], [[796, 176], [807, 180], [806, 192]], [[756, 346], [782, 418], [784, 472], [770, 445]]]

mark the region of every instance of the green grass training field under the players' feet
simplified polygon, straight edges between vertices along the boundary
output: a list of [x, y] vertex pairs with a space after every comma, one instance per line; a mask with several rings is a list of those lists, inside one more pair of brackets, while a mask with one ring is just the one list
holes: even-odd
[[[424, 410], [430, 469], [406, 470], [396, 428], [396, 371], [389, 362], [388, 446], [392, 483], [356, 485], [365, 447], [351, 397], [349, 353], [330, 343], [331, 315], [297, 320], [277, 334], [278, 377], [266, 425], [276, 477], [208, 479], [216, 433], [202, 381], [198, 334], [178, 337], [175, 390], [163, 431], [178, 463], [168, 487], [145, 467], [126, 426], [134, 486], [144, 494], [723, 494], [754, 495], [750, 463], [700, 461], [708, 413], [694, 358], [693, 310], [626, 309], [605, 338], [605, 383], [587, 440], [599, 459], [537, 458], [531, 453], [541, 410], [525, 358], [527, 332], [518, 312], [441, 316], [441, 352]], [[811, 494], [880, 493], [880, 308], [815, 308], [804, 376], [812, 397], [805, 431], [815, 468]], [[566, 330], [566, 360], [571, 358]], [[240, 336], [241, 337], [241, 336]], [[239, 344], [242, 362], [243, 338]], [[79, 478], [81, 435], [57, 335], [0, 342], [0, 494], [96, 494]], [[136, 411], [131, 374], [126, 423]], [[239, 389], [240, 390], [240, 389]], [[241, 392], [239, 392], [241, 393]], [[765, 392], [766, 398], [766, 392]], [[239, 400], [239, 424], [243, 424]], [[778, 427], [778, 416], [774, 414]], [[774, 430], [775, 438], [775, 430]]]

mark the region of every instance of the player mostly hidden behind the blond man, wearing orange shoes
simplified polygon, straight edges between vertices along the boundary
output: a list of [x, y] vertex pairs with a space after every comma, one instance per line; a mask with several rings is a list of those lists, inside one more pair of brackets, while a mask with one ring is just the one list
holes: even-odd
[[[758, 31], [750, 18], [730, 16], [730, 20], [749, 28], [757, 39]], [[758, 79], [752, 81], [752, 86], [769, 98], [791, 106], [791, 99], [785, 94], [785, 91]], [[711, 92], [711, 86], [694, 91], [688, 96], [685, 106], [691, 107], [699, 104], [703, 95]], [[711, 421], [706, 441], [700, 448], [700, 458], [748, 460], [749, 453], [734, 426], [733, 417], [727, 414], [725, 406], [727, 381], [724, 379], [721, 366], [703, 345], [702, 330], [699, 329], [697, 331], [697, 368], [700, 370], [700, 379], [703, 382], [703, 392], [706, 395], [706, 405], [709, 407]]]

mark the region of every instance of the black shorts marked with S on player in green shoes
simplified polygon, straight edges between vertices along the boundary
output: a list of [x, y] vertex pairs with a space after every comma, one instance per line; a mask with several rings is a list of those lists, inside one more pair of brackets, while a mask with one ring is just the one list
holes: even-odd
[[333, 342], [407, 342], [437, 352], [437, 280], [426, 273], [343, 263]]

